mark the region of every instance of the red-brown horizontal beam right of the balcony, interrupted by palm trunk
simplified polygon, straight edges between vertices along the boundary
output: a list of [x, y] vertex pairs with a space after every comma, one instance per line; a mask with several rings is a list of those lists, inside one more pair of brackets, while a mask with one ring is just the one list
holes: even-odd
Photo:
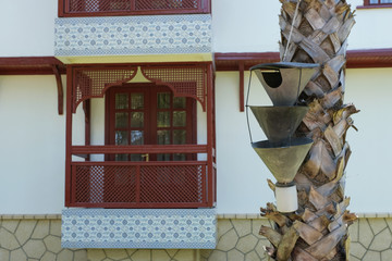
[[[217, 71], [238, 71], [240, 62], [249, 70], [259, 63], [279, 62], [279, 52], [217, 52], [215, 61]], [[347, 51], [347, 69], [366, 67], [392, 67], [392, 48]]]

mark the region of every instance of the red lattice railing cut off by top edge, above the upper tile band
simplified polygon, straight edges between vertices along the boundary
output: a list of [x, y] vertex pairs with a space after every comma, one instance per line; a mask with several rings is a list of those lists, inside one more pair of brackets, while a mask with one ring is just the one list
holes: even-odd
[[210, 0], [59, 0], [59, 16], [210, 13]]

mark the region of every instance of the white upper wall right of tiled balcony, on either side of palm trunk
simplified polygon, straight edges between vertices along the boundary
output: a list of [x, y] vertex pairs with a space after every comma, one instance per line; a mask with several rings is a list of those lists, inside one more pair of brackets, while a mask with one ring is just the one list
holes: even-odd
[[[363, 0], [348, 0], [352, 10]], [[213, 47], [216, 52], [279, 51], [280, 2], [246, 0], [212, 1]], [[392, 9], [358, 9], [348, 39], [348, 50], [391, 48]]]

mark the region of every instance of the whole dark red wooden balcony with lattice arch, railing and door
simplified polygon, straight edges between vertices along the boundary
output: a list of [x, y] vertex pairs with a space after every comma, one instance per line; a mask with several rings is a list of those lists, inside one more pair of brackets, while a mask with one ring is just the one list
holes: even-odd
[[[68, 77], [65, 207], [196, 209], [215, 206], [211, 63], [69, 65]], [[159, 100], [167, 101], [163, 108], [158, 105], [161, 103], [157, 97], [169, 97], [169, 100]], [[175, 107], [174, 98], [184, 103]], [[101, 100], [93, 108], [93, 99]], [[79, 110], [78, 104], [83, 105]], [[101, 112], [105, 112], [105, 124], [91, 126], [91, 114], [101, 115]], [[120, 126], [122, 117], [119, 116], [125, 114], [126, 126]], [[146, 121], [133, 122], [132, 115], [142, 114]], [[173, 124], [174, 120], [170, 119], [174, 119], [174, 114], [187, 115], [181, 117], [184, 125]], [[157, 115], [169, 115], [169, 125], [160, 126]], [[205, 120], [198, 126], [206, 130], [204, 144], [195, 138], [197, 117]], [[78, 133], [81, 137], [83, 128], [84, 142], [74, 145], [73, 136]], [[160, 133], [168, 134], [167, 141], [157, 141]], [[174, 139], [175, 133], [183, 133], [184, 138]], [[102, 134], [105, 142], [96, 145], [91, 134], [94, 137]]]

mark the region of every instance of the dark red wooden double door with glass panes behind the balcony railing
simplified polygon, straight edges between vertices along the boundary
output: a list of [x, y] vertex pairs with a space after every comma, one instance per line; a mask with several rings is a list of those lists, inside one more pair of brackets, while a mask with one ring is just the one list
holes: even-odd
[[[170, 88], [130, 84], [109, 90], [107, 142], [118, 146], [196, 142], [195, 101], [174, 97]], [[115, 161], [183, 161], [195, 156], [115, 154]]]

